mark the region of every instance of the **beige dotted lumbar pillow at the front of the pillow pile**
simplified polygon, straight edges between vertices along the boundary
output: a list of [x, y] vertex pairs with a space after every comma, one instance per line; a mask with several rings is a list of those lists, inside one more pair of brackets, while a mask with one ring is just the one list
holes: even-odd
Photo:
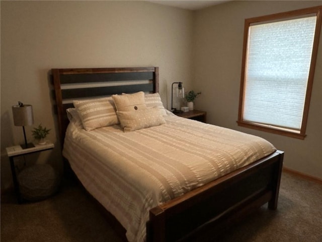
[[116, 111], [124, 132], [130, 132], [166, 124], [158, 107], [145, 108], [136, 111]]

